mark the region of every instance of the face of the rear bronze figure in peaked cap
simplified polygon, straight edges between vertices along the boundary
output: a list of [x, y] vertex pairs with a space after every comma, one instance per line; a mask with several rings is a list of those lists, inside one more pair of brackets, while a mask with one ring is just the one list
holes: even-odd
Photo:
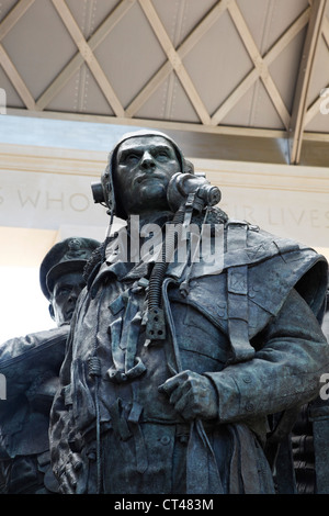
[[57, 326], [71, 321], [78, 296], [84, 285], [82, 272], [68, 272], [57, 279], [49, 307]]

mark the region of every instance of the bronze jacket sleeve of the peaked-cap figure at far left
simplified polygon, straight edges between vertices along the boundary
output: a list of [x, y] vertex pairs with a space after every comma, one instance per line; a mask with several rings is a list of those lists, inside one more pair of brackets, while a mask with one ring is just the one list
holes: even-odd
[[7, 383], [7, 400], [26, 393], [44, 374], [58, 374], [69, 326], [15, 337], [0, 346], [0, 373]]

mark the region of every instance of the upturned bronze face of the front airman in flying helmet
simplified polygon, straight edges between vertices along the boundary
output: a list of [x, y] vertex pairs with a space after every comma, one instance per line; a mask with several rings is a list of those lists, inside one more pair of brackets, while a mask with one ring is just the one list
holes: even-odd
[[122, 143], [114, 172], [116, 194], [128, 215], [169, 210], [167, 189], [181, 171], [169, 141], [161, 136], [138, 136]]

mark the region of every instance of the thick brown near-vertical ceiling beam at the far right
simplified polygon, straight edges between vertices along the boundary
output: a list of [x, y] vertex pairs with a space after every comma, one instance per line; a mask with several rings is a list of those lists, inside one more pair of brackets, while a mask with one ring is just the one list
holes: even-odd
[[321, 35], [327, 0], [313, 0], [303, 56], [296, 82], [293, 112], [290, 123], [288, 149], [291, 164], [297, 165], [300, 158], [303, 133], [305, 130], [307, 96], [314, 67], [316, 48]]

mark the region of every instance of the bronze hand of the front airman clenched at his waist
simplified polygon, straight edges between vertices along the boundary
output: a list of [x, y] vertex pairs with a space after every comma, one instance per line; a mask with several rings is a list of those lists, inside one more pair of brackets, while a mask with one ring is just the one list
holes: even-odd
[[193, 371], [182, 371], [158, 388], [169, 396], [174, 410], [186, 420], [214, 419], [218, 415], [217, 393], [211, 380]]

